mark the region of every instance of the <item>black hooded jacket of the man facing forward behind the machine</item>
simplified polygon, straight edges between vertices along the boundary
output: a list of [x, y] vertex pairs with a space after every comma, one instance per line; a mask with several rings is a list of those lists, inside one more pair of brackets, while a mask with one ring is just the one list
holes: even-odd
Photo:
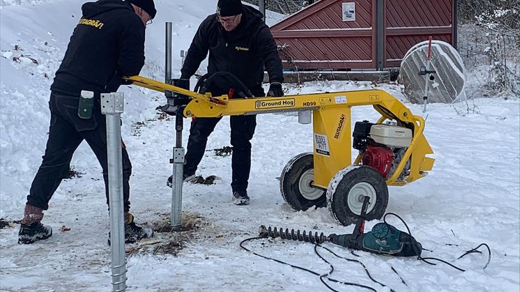
[[181, 70], [181, 78], [189, 78], [201, 61], [208, 59], [208, 73], [231, 72], [255, 95], [263, 95], [263, 68], [269, 82], [283, 82], [282, 61], [269, 27], [259, 10], [242, 6], [240, 24], [226, 31], [217, 14], [206, 17], [195, 34]]

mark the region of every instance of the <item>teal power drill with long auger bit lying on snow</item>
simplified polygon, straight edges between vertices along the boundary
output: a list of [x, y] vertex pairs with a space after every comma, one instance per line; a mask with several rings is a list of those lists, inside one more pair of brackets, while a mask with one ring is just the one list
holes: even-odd
[[309, 243], [325, 243], [330, 242], [349, 249], [357, 249], [374, 254], [383, 254], [386, 256], [420, 256], [422, 246], [410, 234], [400, 231], [394, 226], [384, 222], [378, 223], [372, 227], [372, 231], [363, 233], [365, 228], [365, 215], [369, 197], [365, 196], [361, 208], [361, 214], [358, 222], [355, 224], [352, 234], [330, 234], [324, 236], [323, 233], [315, 232], [300, 233], [300, 230], [294, 231], [289, 229], [271, 229], [266, 226], [260, 226], [260, 237], [271, 237], [282, 239], [291, 239], [298, 241], [306, 241]]

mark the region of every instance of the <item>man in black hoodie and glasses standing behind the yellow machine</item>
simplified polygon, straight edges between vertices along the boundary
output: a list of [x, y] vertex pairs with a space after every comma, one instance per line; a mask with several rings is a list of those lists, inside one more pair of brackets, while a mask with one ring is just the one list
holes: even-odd
[[[186, 56], [181, 78], [194, 75], [201, 61], [208, 59], [208, 74], [230, 72], [240, 79], [254, 96], [264, 96], [263, 68], [270, 82], [268, 96], [282, 96], [282, 61], [275, 40], [258, 10], [242, 5], [240, 0], [219, 0], [217, 13], [209, 15], [195, 34]], [[213, 83], [208, 92], [218, 96], [229, 94], [230, 86]], [[208, 136], [220, 118], [195, 118], [190, 128], [188, 152], [185, 157], [184, 179], [194, 176], [201, 162]], [[251, 169], [251, 143], [256, 116], [231, 116], [231, 158], [233, 201], [249, 204], [247, 180]]]

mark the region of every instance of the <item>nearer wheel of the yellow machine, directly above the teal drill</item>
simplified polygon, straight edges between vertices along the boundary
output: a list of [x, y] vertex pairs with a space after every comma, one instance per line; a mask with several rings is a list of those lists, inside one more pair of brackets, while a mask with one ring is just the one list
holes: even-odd
[[358, 221], [363, 199], [368, 196], [366, 220], [381, 219], [388, 205], [385, 179], [372, 167], [351, 165], [337, 172], [327, 188], [330, 215], [344, 226]]

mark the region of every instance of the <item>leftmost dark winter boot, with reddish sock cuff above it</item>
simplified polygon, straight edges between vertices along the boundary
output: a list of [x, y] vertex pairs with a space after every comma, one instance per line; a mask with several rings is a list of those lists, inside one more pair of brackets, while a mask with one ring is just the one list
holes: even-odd
[[18, 243], [30, 244], [52, 236], [52, 229], [41, 223], [43, 209], [25, 205], [24, 219], [18, 232]]

